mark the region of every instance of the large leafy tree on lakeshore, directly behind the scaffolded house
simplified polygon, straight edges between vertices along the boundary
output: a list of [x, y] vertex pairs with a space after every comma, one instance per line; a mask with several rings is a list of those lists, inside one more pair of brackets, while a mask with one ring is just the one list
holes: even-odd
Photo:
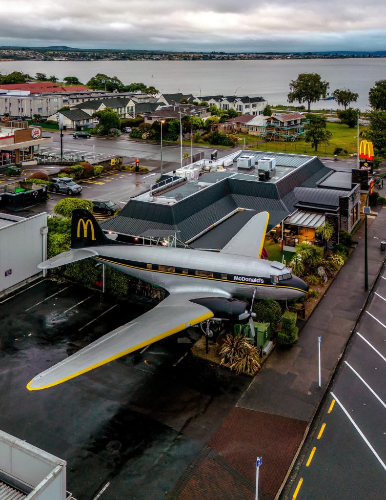
[[299, 104], [307, 102], [308, 112], [311, 102], [316, 102], [326, 94], [329, 88], [328, 81], [321, 80], [317, 73], [300, 73], [295, 80], [289, 83], [290, 92], [288, 102], [297, 101]]

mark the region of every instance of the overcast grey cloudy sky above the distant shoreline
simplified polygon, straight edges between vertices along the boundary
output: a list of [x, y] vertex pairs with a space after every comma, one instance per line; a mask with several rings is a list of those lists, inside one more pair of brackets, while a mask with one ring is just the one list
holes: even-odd
[[386, 49], [384, 0], [0, 0], [0, 45]]

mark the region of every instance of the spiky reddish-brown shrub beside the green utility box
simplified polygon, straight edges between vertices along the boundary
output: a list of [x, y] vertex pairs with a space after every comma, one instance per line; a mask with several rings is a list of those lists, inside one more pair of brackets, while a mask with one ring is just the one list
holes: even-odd
[[227, 333], [219, 349], [221, 364], [233, 370], [237, 375], [239, 373], [254, 375], [261, 364], [257, 347], [250, 341], [250, 338], [243, 335], [233, 336]]

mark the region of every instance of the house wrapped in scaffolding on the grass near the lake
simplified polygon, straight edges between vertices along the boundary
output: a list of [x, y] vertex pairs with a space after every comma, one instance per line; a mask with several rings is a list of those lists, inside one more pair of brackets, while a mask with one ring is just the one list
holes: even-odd
[[293, 141], [304, 134], [304, 125], [308, 120], [302, 113], [274, 113], [264, 118], [261, 138], [281, 141]]

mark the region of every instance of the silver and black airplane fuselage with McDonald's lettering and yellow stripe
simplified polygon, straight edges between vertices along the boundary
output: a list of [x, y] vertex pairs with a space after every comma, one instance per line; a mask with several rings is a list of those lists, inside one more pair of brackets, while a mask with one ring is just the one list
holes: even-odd
[[197, 289], [215, 296], [291, 299], [307, 285], [279, 262], [204, 250], [142, 245], [101, 245], [95, 260], [169, 292]]

